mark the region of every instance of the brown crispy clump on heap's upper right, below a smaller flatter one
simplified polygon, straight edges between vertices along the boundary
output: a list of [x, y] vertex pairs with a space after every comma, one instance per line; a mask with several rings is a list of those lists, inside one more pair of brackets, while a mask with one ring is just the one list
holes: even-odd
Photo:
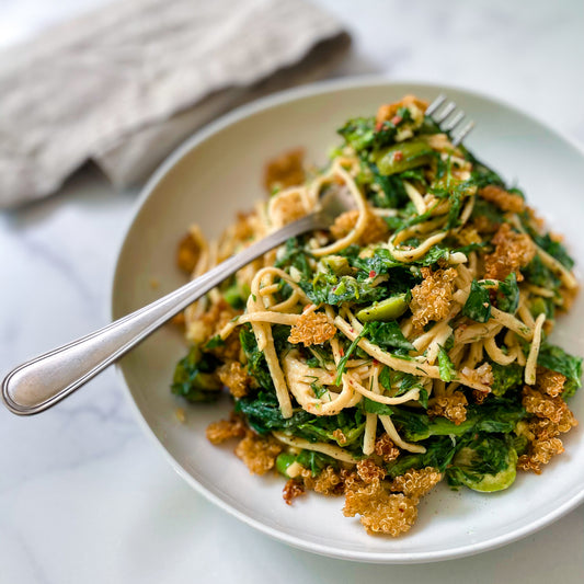
[[520, 282], [523, 275], [519, 268], [525, 267], [536, 254], [529, 236], [516, 233], [509, 224], [503, 224], [491, 242], [495, 245], [495, 251], [484, 259], [484, 277], [503, 280], [516, 272], [517, 280]]

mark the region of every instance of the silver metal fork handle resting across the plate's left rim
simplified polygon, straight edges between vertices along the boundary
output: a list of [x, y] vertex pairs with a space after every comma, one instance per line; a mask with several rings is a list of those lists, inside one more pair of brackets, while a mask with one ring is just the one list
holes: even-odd
[[36, 414], [55, 405], [231, 274], [288, 238], [319, 229], [322, 224], [319, 214], [288, 224], [152, 304], [23, 363], [2, 381], [4, 404], [19, 415]]

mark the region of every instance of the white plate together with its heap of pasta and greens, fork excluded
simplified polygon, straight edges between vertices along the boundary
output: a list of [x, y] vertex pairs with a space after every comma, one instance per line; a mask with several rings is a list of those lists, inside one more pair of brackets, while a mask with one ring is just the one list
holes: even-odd
[[[425, 110], [446, 92], [463, 146]], [[180, 474], [337, 558], [424, 562], [542, 528], [584, 497], [582, 152], [456, 88], [285, 92], [187, 140], [145, 187], [119, 318], [318, 207], [118, 366]]]

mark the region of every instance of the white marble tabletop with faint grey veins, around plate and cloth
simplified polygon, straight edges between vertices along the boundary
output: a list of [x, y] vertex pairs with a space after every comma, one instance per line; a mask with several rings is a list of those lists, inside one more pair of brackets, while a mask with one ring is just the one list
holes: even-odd
[[[0, 46], [100, 1], [3, 0]], [[579, 0], [319, 2], [355, 37], [336, 75], [486, 91], [584, 145]], [[2, 374], [107, 322], [135, 199], [90, 170], [53, 198], [0, 215]], [[183, 483], [141, 434], [111, 370], [37, 417], [2, 409], [0, 444], [2, 584], [584, 580], [584, 507], [505, 548], [439, 564], [363, 565], [289, 549]]]

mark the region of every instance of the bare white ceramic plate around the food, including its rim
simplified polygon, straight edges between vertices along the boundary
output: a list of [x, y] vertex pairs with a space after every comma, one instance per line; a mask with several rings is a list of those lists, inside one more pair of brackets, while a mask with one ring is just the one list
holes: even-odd
[[[211, 124], [179, 148], [145, 187], [119, 253], [113, 287], [113, 317], [119, 318], [184, 283], [174, 266], [179, 238], [191, 222], [217, 236], [237, 210], [263, 197], [264, 162], [290, 147], [308, 159], [325, 160], [345, 119], [369, 115], [405, 93], [432, 100], [445, 91], [477, 122], [466, 141], [504, 178], [525, 188], [550, 226], [565, 233], [575, 257], [584, 257], [582, 176], [584, 157], [568, 139], [540, 122], [490, 98], [456, 88], [383, 80], [344, 80], [288, 91], [242, 107]], [[151, 280], [160, 282], [152, 289]], [[553, 339], [584, 355], [584, 298], [557, 328]], [[147, 433], [167, 459], [199, 492], [240, 519], [282, 541], [336, 558], [409, 563], [445, 560], [502, 546], [549, 525], [584, 499], [584, 440], [575, 428], [565, 454], [540, 477], [519, 473], [508, 491], [479, 494], [438, 488], [421, 504], [419, 520], [399, 539], [367, 536], [357, 518], [346, 518], [343, 497], [314, 493], [282, 500], [283, 481], [256, 477], [233, 456], [214, 447], [205, 427], [228, 410], [186, 406], [187, 423], [175, 417], [184, 405], [169, 390], [174, 364], [185, 353], [181, 335], [167, 327], [118, 365], [125, 391]], [[584, 420], [584, 391], [571, 406]]]

